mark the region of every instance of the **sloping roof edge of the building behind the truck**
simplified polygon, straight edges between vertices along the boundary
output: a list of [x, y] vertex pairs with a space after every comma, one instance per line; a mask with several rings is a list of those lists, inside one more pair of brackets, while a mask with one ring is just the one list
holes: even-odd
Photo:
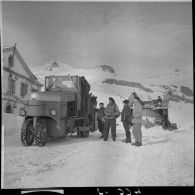
[[[14, 52], [14, 48], [15, 46], [10, 46], [10, 47], [3, 47], [3, 52], [9, 52], [9, 51], [13, 51]], [[42, 87], [43, 84], [40, 83], [37, 78], [35, 77], [35, 75], [31, 72], [30, 68], [27, 66], [26, 62], [24, 61], [24, 59], [22, 58], [22, 56], [20, 55], [19, 51], [17, 48], [15, 48], [15, 55], [17, 56], [18, 60], [21, 62], [21, 65], [23, 66], [24, 70], [27, 72], [27, 74], [29, 75], [29, 77], [31, 78], [31, 81], [33, 83], [36, 83], [38, 86]]]

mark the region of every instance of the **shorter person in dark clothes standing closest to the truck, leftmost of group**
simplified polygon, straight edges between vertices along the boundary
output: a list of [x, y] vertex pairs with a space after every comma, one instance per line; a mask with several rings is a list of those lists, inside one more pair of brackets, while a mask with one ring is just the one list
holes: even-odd
[[100, 138], [103, 138], [104, 137], [104, 128], [105, 128], [105, 119], [104, 119], [105, 107], [104, 107], [103, 103], [100, 103], [99, 106], [100, 106], [100, 108], [97, 111], [97, 121], [98, 121], [99, 132], [102, 134], [102, 136]]

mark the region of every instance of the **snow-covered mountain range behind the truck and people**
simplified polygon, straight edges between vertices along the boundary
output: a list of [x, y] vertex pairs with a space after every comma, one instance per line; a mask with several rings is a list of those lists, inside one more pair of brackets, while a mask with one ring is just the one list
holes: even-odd
[[99, 97], [99, 101], [103, 101], [102, 97], [105, 94], [118, 99], [119, 96], [127, 98], [134, 91], [141, 99], [150, 100], [163, 96], [168, 90], [171, 90], [180, 101], [182, 98], [193, 100], [193, 75], [189, 69], [170, 69], [147, 78], [138, 78], [136, 82], [125, 80], [109, 65], [81, 69], [53, 60], [35, 72], [42, 83], [45, 76], [68, 74], [85, 76], [91, 85], [91, 91]]

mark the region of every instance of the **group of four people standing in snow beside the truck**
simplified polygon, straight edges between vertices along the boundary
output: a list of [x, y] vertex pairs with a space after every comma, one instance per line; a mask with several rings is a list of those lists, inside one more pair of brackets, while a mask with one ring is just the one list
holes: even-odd
[[109, 97], [109, 103], [104, 107], [103, 103], [99, 104], [99, 109], [97, 110], [97, 121], [98, 128], [101, 132], [101, 137], [104, 141], [108, 140], [109, 130], [111, 128], [111, 136], [113, 141], [116, 140], [116, 118], [121, 115], [121, 121], [123, 123], [126, 139], [123, 140], [124, 143], [131, 142], [131, 132], [130, 128], [133, 126], [132, 133], [135, 138], [135, 142], [132, 145], [141, 146], [142, 145], [142, 105], [141, 101], [136, 94], [130, 98], [130, 100], [124, 100], [124, 107], [120, 113], [118, 106], [116, 105], [114, 99]]

